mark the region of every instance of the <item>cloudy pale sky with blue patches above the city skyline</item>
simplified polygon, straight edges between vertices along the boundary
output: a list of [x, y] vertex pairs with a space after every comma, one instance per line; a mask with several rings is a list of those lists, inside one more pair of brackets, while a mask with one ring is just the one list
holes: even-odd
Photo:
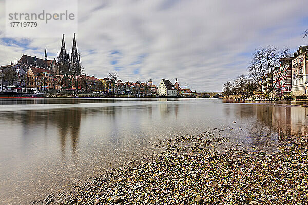
[[[31, 1], [31, 0], [28, 0]], [[25, 4], [26, 4], [25, 0]], [[62, 36], [6, 38], [5, 6], [0, 0], [0, 65], [23, 54], [56, 57]], [[117, 72], [122, 81], [162, 78], [193, 91], [221, 91], [226, 81], [247, 74], [255, 49], [308, 45], [307, 1], [88, 0], [78, 1], [73, 33], [87, 75]]]

